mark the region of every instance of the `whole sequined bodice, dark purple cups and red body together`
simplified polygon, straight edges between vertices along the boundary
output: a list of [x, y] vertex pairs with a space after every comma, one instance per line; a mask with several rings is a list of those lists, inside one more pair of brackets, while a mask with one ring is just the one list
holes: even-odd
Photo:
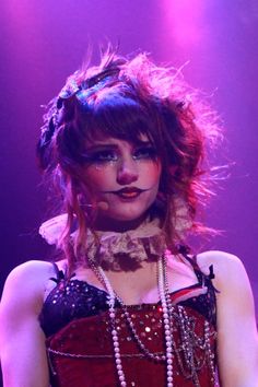
[[[215, 386], [215, 290], [191, 261], [197, 283], [169, 294], [174, 319], [174, 386]], [[57, 268], [57, 267], [56, 267]], [[47, 296], [39, 321], [47, 336], [52, 386], [114, 387], [117, 385], [108, 316], [108, 295], [85, 281], [57, 271], [57, 285]], [[139, 350], [116, 302], [116, 325], [128, 386], [166, 386], [165, 364]], [[161, 303], [127, 306], [137, 332], [154, 354], [164, 354]]]

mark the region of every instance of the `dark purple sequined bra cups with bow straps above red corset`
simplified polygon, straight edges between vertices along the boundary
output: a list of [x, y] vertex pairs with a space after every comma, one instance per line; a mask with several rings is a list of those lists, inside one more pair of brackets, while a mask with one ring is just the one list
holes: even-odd
[[[192, 262], [195, 265], [195, 262]], [[48, 337], [56, 333], [70, 321], [101, 314], [108, 309], [107, 293], [85, 281], [66, 279], [62, 271], [55, 265], [57, 278], [52, 280], [57, 285], [47, 296], [39, 321], [45, 335]], [[185, 305], [200, 313], [208, 321], [215, 326], [215, 292], [211, 277], [206, 277], [195, 267], [198, 282], [195, 285], [171, 293], [174, 304]], [[198, 290], [207, 288], [207, 293], [200, 294]], [[195, 294], [198, 294], [195, 296]], [[141, 310], [148, 307], [157, 307], [157, 304], [132, 305], [130, 309]], [[117, 307], [119, 307], [117, 303]]]

